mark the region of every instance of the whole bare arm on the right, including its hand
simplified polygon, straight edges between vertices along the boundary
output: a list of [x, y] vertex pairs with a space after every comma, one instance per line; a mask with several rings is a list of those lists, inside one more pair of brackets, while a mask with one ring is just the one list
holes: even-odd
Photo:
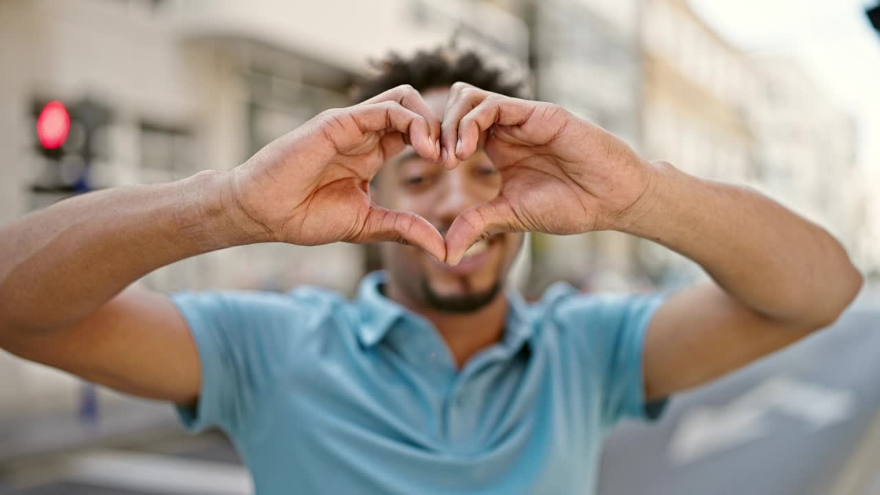
[[715, 279], [674, 295], [650, 322], [649, 398], [699, 385], [829, 325], [862, 285], [843, 247], [817, 225], [748, 188], [642, 159], [556, 105], [453, 85], [444, 165], [470, 157], [488, 129], [485, 148], [502, 190], [452, 223], [447, 262], [492, 233], [618, 230], [686, 255]]

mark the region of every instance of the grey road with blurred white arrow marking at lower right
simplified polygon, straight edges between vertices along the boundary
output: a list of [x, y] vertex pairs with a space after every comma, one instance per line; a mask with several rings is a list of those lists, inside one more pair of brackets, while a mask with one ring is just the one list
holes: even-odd
[[[868, 495], [880, 457], [880, 312], [831, 328], [672, 399], [655, 425], [608, 437], [599, 494]], [[862, 480], [845, 483], [862, 462]], [[847, 490], [842, 491], [842, 485]]]

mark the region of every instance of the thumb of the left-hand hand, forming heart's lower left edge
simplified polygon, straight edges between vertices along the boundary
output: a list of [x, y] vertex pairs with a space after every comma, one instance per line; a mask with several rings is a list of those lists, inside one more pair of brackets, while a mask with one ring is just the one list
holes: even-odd
[[411, 211], [391, 211], [372, 206], [357, 242], [392, 241], [421, 247], [438, 261], [446, 258], [446, 244], [428, 220]]

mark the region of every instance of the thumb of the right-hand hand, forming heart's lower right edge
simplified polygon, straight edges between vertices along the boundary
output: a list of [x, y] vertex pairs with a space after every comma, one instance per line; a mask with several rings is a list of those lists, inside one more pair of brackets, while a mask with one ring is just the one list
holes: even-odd
[[522, 230], [524, 227], [518, 224], [510, 203], [502, 197], [468, 208], [452, 221], [446, 232], [446, 264], [457, 265], [468, 247], [478, 240], [495, 233]]

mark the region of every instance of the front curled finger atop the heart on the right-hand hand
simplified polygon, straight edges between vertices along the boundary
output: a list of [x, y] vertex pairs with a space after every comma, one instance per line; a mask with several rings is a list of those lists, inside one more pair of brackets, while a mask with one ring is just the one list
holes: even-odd
[[520, 126], [529, 120], [536, 102], [506, 96], [491, 96], [458, 121], [458, 159], [466, 160], [477, 151], [480, 136], [495, 124]]

